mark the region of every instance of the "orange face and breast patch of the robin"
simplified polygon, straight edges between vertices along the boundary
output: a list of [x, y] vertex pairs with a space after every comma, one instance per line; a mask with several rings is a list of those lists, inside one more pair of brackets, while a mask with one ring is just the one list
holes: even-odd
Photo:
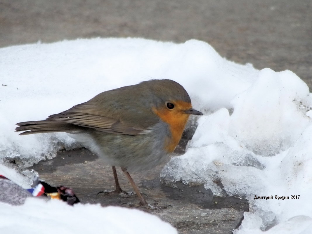
[[186, 114], [183, 110], [188, 110], [191, 107], [190, 103], [178, 101], [175, 102], [173, 110], [165, 107], [161, 109], [153, 108], [154, 113], [170, 126], [171, 138], [168, 138], [165, 144], [165, 149], [168, 153], [172, 153], [178, 145], [188, 121], [189, 114]]

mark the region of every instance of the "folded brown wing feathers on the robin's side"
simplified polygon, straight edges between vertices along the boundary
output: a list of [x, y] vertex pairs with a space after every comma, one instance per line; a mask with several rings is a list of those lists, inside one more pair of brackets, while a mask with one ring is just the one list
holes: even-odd
[[88, 102], [73, 106], [60, 114], [50, 115], [46, 120], [93, 128], [112, 134], [138, 135], [144, 134], [148, 130], [123, 123], [121, 120], [114, 118], [114, 116], [97, 110], [95, 106]]

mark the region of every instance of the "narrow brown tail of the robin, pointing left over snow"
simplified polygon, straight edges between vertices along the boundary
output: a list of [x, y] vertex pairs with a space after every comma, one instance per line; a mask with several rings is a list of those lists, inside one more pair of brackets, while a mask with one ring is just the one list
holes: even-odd
[[19, 135], [49, 132], [71, 132], [82, 128], [74, 124], [49, 120], [27, 121], [17, 123], [16, 125], [18, 125], [15, 129], [16, 132], [24, 131]]

